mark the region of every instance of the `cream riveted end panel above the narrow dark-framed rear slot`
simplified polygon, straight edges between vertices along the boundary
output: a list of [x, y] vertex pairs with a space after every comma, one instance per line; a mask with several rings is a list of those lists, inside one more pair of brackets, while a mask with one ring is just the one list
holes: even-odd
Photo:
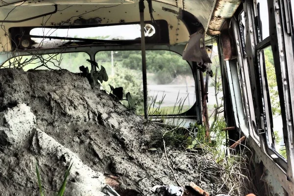
[[[44, 0], [45, 1], [45, 0]], [[10, 51], [12, 48], [9, 29], [11, 27], [22, 26], [74, 26], [74, 25], [112, 25], [120, 23], [139, 22], [139, 0], [123, 1], [126, 3], [116, 4], [71, 4], [69, 0], [59, 1], [42, 1], [30, 6], [30, 1], [25, 1], [22, 5], [16, 6], [10, 4], [0, 7], [0, 21], [10, 20], [14, 22], [0, 22], [0, 48]], [[121, 0], [114, 0], [116, 2]], [[50, 13], [55, 6], [52, 2], [58, 2], [57, 11], [43, 17], [37, 17], [42, 14]], [[64, 2], [62, 4], [61, 2]], [[81, 2], [81, 1], [78, 1]], [[86, 2], [86, 1], [85, 1]], [[88, 1], [87, 1], [88, 2]], [[91, 1], [92, 2], [92, 1]], [[102, 2], [101, 0], [97, 2]], [[113, 2], [113, 1], [112, 1]], [[154, 1], [154, 19], [165, 20], [169, 26], [169, 40], [171, 45], [186, 44], [189, 40], [189, 31], [185, 24], [179, 20], [180, 8]], [[150, 21], [150, 14], [147, 11], [147, 2], [145, 2], [146, 12], [145, 20]], [[33, 19], [17, 22], [20, 20], [35, 17]], [[37, 17], [37, 18], [36, 18]], [[81, 22], [81, 23], [77, 23]]]

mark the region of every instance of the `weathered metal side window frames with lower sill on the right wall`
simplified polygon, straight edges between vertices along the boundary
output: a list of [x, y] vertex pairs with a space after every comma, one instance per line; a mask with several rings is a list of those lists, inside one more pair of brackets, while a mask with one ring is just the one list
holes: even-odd
[[[276, 178], [282, 187], [287, 191], [288, 194], [293, 195], [293, 181], [294, 181], [294, 146], [293, 146], [293, 137], [294, 137], [294, 126], [293, 126], [293, 117], [294, 111], [291, 110], [294, 106], [294, 37], [292, 34], [286, 34], [285, 30], [285, 21], [283, 15], [283, 9], [281, 9], [281, 4], [285, 3], [284, 0], [275, 1], [268, 0], [268, 10], [269, 10], [269, 30], [270, 30], [270, 38], [265, 39], [263, 42], [258, 42], [258, 33], [257, 26], [255, 21], [256, 10], [255, 10], [255, 1], [254, 0], [246, 0], [243, 2], [243, 8], [246, 12], [246, 53], [247, 53], [247, 64], [249, 70], [250, 77], [250, 85], [251, 93], [252, 93], [252, 102], [254, 102], [253, 109], [255, 110], [255, 115], [251, 116], [252, 118], [256, 118], [256, 126], [255, 129], [257, 132], [263, 131], [264, 129], [264, 119], [260, 118], [261, 111], [259, 110], [259, 105], [262, 103], [259, 94], [256, 92], [258, 90], [258, 86], [256, 81], [256, 76], [258, 75], [256, 70], [258, 70], [258, 62], [257, 62], [257, 49], [265, 49], [268, 46], [274, 46], [273, 49], [273, 60], [275, 64], [275, 71], [277, 75], [278, 89], [280, 94], [280, 102], [281, 102], [281, 112], [283, 118], [283, 133], [284, 133], [284, 141], [286, 145], [287, 151], [287, 164], [286, 168], [282, 167], [282, 165], [270, 156], [270, 150], [266, 145], [266, 137], [265, 134], [258, 134], [260, 138], [260, 146], [258, 147], [256, 141], [254, 141], [254, 137], [250, 134], [248, 143], [250, 147], [254, 150], [255, 161], [263, 162], [264, 166], [269, 170], [271, 175]], [[270, 11], [271, 10], [271, 11]], [[293, 18], [292, 18], [293, 21]], [[277, 28], [279, 26], [280, 28]], [[292, 33], [294, 29], [292, 27]], [[240, 38], [238, 38], [240, 39]], [[270, 40], [270, 44], [269, 44]], [[278, 65], [278, 66], [277, 66]], [[289, 70], [289, 72], [287, 72]], [[287, 81], [287, 82], [286, 82]], [[291, 83], [292, 81], [292, 83]], [[255, 91], [255, 92], [254, 92]], [[261, 90], [260, 90], [261, 91]], [[250, 118], [250, 117], [248, 117]], [[260, 118], [260, 120], [258, 120]], [[285, 121], [284, 121], [285, 119]], [[252, 121], [255, 123], [254, 121]], [[278, 157], [278, 159], [280, 159]], [[280, 159], [281, 160], [281, 159]], [[281, 160], [282, 161], [282, 160]]]

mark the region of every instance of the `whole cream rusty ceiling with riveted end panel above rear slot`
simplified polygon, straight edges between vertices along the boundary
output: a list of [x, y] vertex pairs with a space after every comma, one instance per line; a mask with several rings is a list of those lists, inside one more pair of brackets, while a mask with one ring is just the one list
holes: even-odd
[[[155, 20], [168, 22], [170, 44], [186, 44], [189, 32], [179, 19], [181, 9], [193, 14], [205, 32], [212, 35], [219, 34], [221, 25], [233, 15], [239, 2], [241, 0], [153, 0], [153, 16]], [[11, 49], [10, 27], [74, 25], [76, 20], [83, 20], [83, 25], [90, 25], [88, 23], [93, 22], [93, 19], [99, 21], [96, 25], [133, 23], [140, 21], [138, 12], [139, 0], [0, 1], [0, 47], [6, 51]], [[150, 20], [148, 11], [145, 12], [145, 18]]]

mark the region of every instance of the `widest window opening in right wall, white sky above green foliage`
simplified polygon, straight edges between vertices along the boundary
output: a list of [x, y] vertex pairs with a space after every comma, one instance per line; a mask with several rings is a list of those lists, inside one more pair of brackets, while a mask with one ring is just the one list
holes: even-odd
[[263, 73], [260, 75], [264, 80], [262, 90], [263, 112], [265, 118], [265, 144], [270, 156], [283, 168], [287, 168], [287, 155], [284, 143], [283, 119], [281, 116], [280, 99], [276, 80], [273, 52], [270, 46], [269, 33], [269, 12], [268, 3], [263, 0], [256, 0], [256, 25], [258, 44], [256, 52], [258, 63]]

